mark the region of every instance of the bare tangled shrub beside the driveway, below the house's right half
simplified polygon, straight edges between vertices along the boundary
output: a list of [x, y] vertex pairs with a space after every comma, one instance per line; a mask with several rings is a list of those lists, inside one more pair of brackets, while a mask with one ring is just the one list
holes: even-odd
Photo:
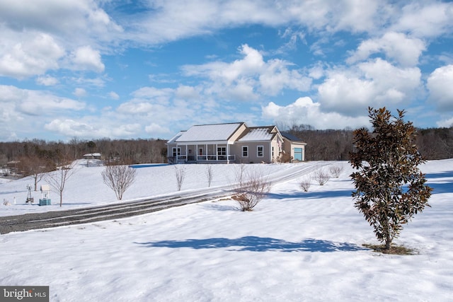
[[241, 211], [253, 211], [253, 208], [268, 194], [270, 182], [256, 170], [245, 170], [241, 165], [236, 173], [234, 194], [231, 198], [236, 200]]

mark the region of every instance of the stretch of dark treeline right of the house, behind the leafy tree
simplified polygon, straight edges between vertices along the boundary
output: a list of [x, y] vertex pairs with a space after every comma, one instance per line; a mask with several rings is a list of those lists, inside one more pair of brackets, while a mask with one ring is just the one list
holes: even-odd
[[[306, 142], [307, 161], [348, 161], [353, 150], [353, 130], [316, 130], [310, 125], [287, 130]], [[453, 158], [453, 127], [417, 129], [418, 151], [428, 160]]]

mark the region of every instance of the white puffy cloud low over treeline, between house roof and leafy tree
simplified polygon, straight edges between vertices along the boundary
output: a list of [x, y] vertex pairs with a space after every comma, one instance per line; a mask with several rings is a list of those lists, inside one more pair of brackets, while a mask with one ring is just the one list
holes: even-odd
[[273, 102], [262, 108], [265, 119], [275, 124], [291, 127], [292, 125], [310, 124], [316, 129], [340, 129], [346, 127], [364, 127], [369, 124], [366, 116], [348, 117], [337, 112], [322, 112], [319, 103], [309, 97], [298, 98], [294, 103], [280, 106]]

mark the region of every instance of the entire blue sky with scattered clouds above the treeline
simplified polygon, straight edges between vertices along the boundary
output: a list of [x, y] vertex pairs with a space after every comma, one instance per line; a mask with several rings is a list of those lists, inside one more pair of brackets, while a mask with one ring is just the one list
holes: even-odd
[[0, 141], [453, 125], [449, 1], [0, 0]]

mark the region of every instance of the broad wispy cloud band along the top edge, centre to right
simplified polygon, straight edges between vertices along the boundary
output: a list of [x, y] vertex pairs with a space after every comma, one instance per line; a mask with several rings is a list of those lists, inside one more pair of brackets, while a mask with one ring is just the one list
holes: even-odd
[[[147, 44], [159, 44], [185, 37], [213, 33], [220, 28], [262, 24], [271, 27], [292, 25], [306, 27], [309, 32], [338, 31], [371, 32], [386, 23], [378, 13], [386, 4], [373, 0], [320, 1], [152, 1], [145, 2], [149, 13], [138, 15], [132, 23], [136, 29], [132, 38]], [[174, 22], [178, 20], [178, 22]], [[127, 22], [125, 21], [125, 24]], [[294, 47], [294, 39], [302, 31], [284, 35], [290, 37], [286, 47]]]

